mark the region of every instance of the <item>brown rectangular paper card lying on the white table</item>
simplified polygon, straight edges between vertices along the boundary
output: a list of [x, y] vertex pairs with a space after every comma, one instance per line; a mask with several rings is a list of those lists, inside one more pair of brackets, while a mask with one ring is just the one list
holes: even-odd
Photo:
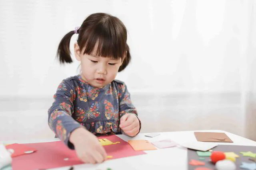
[[197, 141], [201, 142], [230, 142], [233, 141], [225, 133], [194, 132]]

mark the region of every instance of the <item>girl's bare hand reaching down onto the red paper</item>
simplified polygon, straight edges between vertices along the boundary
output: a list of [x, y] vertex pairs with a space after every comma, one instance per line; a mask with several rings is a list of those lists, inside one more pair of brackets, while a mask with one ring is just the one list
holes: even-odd
[[97, 137], [80, 127], [70, 135], [70, 142], [74, 144], [76, 154], [85, 163], [101, 163], [106, 160], [107, 153], [100, 145]]

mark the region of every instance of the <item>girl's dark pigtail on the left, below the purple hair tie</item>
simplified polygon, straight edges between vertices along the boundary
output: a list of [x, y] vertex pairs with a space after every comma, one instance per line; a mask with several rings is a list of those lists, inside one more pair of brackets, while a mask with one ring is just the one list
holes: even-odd
[[68, 32], [60, 41], [57, 54], [56, 54], [56, 58], [58, 58], [58, 60], [60, 61], [60, 64], [73, 62], [70, 56], [70, 49], [69, 49], [70, 39], [72, 35], [74, 35], [74, 31]]

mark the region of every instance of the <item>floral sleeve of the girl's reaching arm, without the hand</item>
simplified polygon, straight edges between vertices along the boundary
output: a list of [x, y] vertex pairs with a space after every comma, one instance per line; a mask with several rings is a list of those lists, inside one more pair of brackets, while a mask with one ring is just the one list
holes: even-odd
[[81, 125], [71, 117], [76, 96], [70, 84], [71, 81], [67, 79], [58, 86], [55, 101], [48, 110], [48, 125], [59, 139], [70, 149], [74, 149], [74, 145], [69, 142], [70, 133]]

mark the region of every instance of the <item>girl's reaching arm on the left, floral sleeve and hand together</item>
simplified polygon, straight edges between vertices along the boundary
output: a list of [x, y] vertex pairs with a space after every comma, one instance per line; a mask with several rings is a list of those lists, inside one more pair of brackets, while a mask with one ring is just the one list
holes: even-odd
[[71, 80], [60, 83], [54, 99], [52, 107], [48, 110], [48, 124], [52, 131], [70, 149], [76, 149], [78, 158], [83, 162], [94, 164], [106, 160], [106, 151], [97, 137], [71, 117], [74, 110], [73, 102], [76, 99]]

